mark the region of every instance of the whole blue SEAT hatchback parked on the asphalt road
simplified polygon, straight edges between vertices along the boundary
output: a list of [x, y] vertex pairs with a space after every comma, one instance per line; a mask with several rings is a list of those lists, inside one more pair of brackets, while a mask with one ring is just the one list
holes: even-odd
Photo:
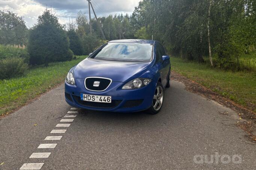
[[110, 41], [70, 69], [66, 102], [97, 111], [157, 114], [170, 87], [170, 67], [158, 41]]

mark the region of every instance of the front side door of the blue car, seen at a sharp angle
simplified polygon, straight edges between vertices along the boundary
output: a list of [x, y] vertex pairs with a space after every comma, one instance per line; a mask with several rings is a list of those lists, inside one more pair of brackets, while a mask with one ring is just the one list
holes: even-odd
[[160, 73], [162, 85], [163, 87], [165, 87], [167, 84], [167, 80], [166, 80], [167, 75], [166, 75], [166, 70], [163, 64], [162, 56], [163, 56], [163, 50], [162, 50], [161, 44], [157, 42], [156, 43], [156, 64], [158, 65], [158, 70]]

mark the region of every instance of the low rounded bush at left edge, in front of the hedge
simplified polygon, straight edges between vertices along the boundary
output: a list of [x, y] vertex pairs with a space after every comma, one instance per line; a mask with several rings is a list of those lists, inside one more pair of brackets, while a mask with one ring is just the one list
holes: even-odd
[[17, 57], [2, 59], [0, 60], [0, 65], [0, 79], [23, 75], [28, 69], [28, 65], [24, 63], [24, 59]]

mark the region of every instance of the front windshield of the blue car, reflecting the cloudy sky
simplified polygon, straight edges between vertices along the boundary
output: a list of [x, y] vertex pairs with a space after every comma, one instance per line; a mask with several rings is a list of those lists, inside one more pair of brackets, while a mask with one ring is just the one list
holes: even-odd
[[111, 61], [151, 61], [153, 44], [108, 43], [94, 57]]

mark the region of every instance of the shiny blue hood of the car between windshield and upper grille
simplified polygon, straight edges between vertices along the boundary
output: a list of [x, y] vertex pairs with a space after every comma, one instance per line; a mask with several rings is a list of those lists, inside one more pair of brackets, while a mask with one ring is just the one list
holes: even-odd
[[140, 77], [149, 69], [151, 62], [117, 62], [96, 59], [85, 59], [74, 69], [75, 78], [105, 77], [112, 81], [126, 82]]

